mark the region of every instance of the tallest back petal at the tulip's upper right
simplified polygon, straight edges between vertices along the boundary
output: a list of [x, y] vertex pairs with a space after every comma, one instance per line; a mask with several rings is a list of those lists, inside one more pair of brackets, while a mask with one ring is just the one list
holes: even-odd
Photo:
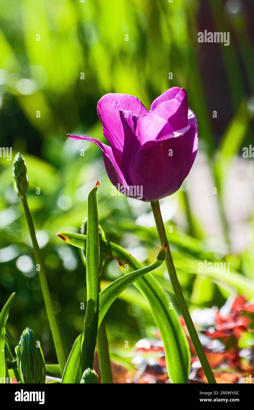
[[[175, 91], [173, 93], [171, 92], [171, 95], [173, 95], [174, 93]], [[157, 107], [155, 107], [152, 112], [153, 114], [156, 114], [169, 121], [169, 124], [175, 131], [187, 127], [188, 99], [186, 91], [183, 88], [180, 89], [180, 91], [174, 98], [163, 101], [162, 103], [157, 105]]]

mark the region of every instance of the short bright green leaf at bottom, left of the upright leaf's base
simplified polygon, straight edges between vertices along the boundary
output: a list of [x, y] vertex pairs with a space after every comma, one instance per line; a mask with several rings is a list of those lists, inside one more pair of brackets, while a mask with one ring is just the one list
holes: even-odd
[[68, 357], [65, 369], [63, 372], [62, 383], [80, 383], [82, 376], [82, 363], [81, 363], [81, 339], [82, 335], [79, 335], [74, 345], [72, 346], [72, 351]]

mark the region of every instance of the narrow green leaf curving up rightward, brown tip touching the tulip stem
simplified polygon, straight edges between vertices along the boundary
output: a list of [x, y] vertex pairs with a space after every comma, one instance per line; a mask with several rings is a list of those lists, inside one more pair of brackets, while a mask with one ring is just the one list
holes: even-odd
[[110, 283], [105, 289], [103, 289], [99, 294], [99, 326], [106, 312], [108, 311], [110, 305], [115, 301], [115, 299], [130, 285], [133, 284], [138, 278], [146, 275], [147, 273], [154, 271], [159, 266], [161, 266], [166, 258], [166, 244], [162, 246], [160, 252], [158, 253], [155, 261], [146, 266], [146, 268], [138, 269], [137, 271], [128, 273], [125, 276], [115, 280]]

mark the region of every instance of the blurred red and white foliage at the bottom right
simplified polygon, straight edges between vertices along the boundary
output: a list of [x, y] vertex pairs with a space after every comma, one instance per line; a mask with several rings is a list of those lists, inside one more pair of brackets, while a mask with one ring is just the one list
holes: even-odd
[[[248, 332], [254, 332], [254, 304], [247, 302], [244, 296], [236, 296], [233, 300], [227, 301], [225, 307], [220, 310], [209, 310], [214, 314], [212, 324], [199, 321], [197, 330], [203, 348], [217, 383], [252, 383], [253, 343], [250, 343], [250, 347], [241, 349], [239, 339]], [[180, 323], [191, 351], [189, 383], [207, 383], [182, 317]], [[128, 381], [119, 381], [117, 377], [115, 383], [170, 383], [166, 372], [164, 348], [158, 331], [155, 332], [155, 339], [144, 339], [137, 343], [134, 358], [139, 365], [137, 371], [124, 374]]]

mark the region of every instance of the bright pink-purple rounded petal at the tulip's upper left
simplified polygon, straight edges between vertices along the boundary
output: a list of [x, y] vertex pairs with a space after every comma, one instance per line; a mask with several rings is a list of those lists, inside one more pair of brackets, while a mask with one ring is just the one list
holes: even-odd
[[132, 111], [135, 116], [149, 112], [137, 97], [128, 94], [109, 93], [97, 104], [97, 113], [103, 124], [103, 134], [112, 147], [122, 151], [124, 130], [119, 110]]

